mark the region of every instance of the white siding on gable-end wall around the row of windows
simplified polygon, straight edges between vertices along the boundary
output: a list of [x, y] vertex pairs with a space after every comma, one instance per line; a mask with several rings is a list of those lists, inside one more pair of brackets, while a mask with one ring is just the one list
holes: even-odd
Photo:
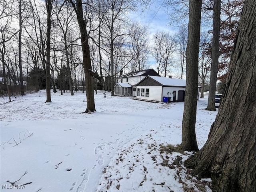
[[[137, 99], [162, 102], [162, 86], [137, 86], [137, 89], [145, 89], [145, 96], [136, 96]], [[149, 97], [146, 97], [146, 89], [149, 89]]]

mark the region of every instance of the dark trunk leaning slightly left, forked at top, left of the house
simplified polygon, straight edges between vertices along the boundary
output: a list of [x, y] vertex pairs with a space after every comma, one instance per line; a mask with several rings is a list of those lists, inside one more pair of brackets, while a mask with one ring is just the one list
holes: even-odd
[[72, 6], [76, 10], [76, 16], [81, 33], [81, 43], [82, 43], [82, 52], [83, 52], [83, 66], [84, 66], [84, 75], [85, 75], [85, 86], [86, 86], [86, 103], [87, 107], [85, 113], [95, 112], [95, 102], [94, 102], [94, 91], [93, 91], [93, 76], [92, 76], [92, 65], [90, 59], [90, 47], [89, 47], [89, 37], [87, 33], [87, 25], [84, 20], [84, 13], [82, 7], [82, 1], [76, 0], [76, 6], [72, 0], [70, 0]]

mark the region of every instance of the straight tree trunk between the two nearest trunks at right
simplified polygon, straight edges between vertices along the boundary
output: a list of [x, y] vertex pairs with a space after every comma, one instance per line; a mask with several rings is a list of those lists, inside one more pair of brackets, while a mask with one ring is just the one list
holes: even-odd
[[209, 98], [206, 110], [215, 111], [215, 91], [219, 65], [220, 48], [220, 4], [221, 0], [214, 0], [213, 29], [212, 29], [212, 66], [210, 76]]

